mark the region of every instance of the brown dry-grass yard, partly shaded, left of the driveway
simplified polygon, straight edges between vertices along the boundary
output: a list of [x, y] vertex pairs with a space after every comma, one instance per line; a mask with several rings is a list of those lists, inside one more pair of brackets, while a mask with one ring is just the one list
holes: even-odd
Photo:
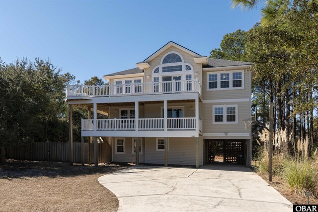
[[7, 160], [0, 165], [0, 212], [117, 211], [116, 196], [97, 179], [128, 166]]

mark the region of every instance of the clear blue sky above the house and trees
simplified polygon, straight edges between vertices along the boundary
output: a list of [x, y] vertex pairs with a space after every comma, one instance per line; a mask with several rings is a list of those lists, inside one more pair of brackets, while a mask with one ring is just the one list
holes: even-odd
[[231, 0], [0, 0], [0, 56], [50, 58], [83, 82], [135, 68], [170, 40], [208, 56], [259, 20]]

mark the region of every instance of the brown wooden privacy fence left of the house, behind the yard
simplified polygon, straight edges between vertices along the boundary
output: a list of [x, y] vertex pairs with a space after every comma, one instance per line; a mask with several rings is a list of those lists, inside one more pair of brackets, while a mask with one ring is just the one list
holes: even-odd
[[[81, 145], [81, 143], [73, 143], [74, 163], [81, 163]], [[97, 145], [98, 163], [110, 162], [112, 160], [110, 145], [107, 142]], [[63, 142], [33, 142], [23, 147], [7, 148], [6, 159], [69, 162], [71, 160], [70, 145]], [[93, 143], [84, 143], [84, 162], [94, 162]]]

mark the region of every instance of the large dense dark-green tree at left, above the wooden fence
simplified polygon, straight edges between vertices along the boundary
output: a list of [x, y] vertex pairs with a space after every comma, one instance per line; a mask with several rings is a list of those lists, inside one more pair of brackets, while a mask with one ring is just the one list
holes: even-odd
[[65, 87], [75, 77], [61, 71], [39, 58], [0, 62], [0, 161], [5, 147], [68, 141]]

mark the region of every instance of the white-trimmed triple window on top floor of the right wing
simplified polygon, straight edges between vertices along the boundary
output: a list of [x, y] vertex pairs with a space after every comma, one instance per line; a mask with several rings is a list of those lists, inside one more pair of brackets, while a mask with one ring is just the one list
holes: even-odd
[[222, 71], [207, 73], [207, 91], [244, 88], [244, 71]]

